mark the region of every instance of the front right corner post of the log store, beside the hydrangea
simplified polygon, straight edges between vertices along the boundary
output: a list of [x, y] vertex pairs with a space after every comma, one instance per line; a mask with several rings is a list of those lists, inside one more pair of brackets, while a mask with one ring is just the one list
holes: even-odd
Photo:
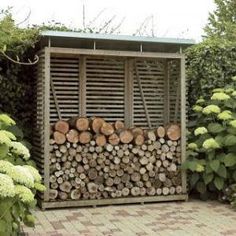
[[[185, 82], [185, 57], [180, 59], [180, 96], [181, 96], [181, 161], [186, 160], [186, 82]], [[187, 191], [186, 171], [182, 170], [183, 193]]]

